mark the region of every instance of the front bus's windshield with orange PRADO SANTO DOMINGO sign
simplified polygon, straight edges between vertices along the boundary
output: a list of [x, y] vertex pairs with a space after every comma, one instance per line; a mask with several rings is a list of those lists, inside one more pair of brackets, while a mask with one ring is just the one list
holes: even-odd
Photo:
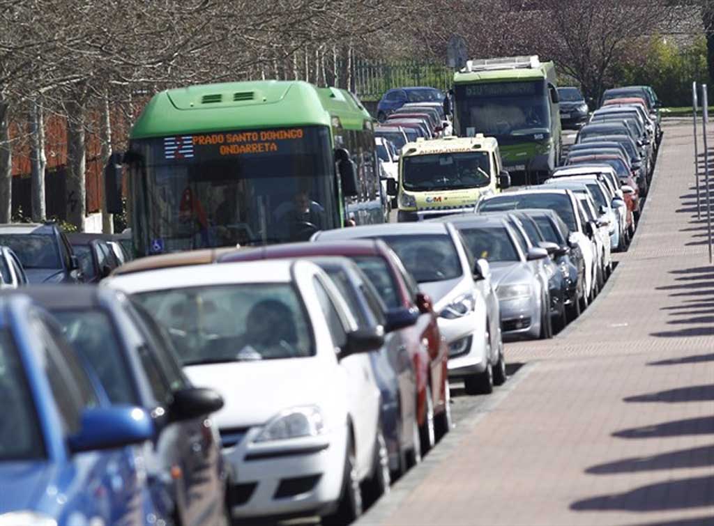
[[324, 126], [140, 139], [131, 151], [138, 253], [305, 241], [338, 226]]

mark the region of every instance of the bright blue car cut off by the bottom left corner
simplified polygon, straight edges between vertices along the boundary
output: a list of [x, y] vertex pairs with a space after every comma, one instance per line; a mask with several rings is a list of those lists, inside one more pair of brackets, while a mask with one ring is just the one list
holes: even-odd
[[0, 525], [161, 520], [141, 448], [144, 409], [109, 405], [61, 330], [24, 295], [0, 298]]

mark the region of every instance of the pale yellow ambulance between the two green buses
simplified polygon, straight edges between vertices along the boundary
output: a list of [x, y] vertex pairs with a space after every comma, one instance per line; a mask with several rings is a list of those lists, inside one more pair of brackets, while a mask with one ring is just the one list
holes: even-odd
[[482, 197], [511, 186], [511, 176], [503, 170], [495, 138], [450, 136], [407, 143], [398, 181], [389, 186], [402, 223], [473, 212]]

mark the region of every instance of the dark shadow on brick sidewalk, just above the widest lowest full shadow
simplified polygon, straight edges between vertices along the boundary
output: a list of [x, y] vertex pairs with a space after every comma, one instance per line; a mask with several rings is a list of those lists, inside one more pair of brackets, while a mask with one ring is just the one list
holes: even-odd
[[608, 462], [585, 470], [590, 475], [630, 473], [639, 471], [672, 470], [679, 467], [702, 467], [714, 464], [714, 445], [670, 451], [647, 457], [630, 457]]

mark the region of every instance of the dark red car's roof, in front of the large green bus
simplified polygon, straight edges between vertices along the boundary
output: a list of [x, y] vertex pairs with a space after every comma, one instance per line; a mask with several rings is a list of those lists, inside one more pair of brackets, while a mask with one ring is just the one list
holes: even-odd
[[380, 256], [387, 249], [383, 241], [361, 239], [353, 241], [320, 241], [311, 243], [284, 243], [256, 248], [241, 248], [222, 256], [221, 263], [258, 261], [263, 259], [311, 258], [323, 256]]

